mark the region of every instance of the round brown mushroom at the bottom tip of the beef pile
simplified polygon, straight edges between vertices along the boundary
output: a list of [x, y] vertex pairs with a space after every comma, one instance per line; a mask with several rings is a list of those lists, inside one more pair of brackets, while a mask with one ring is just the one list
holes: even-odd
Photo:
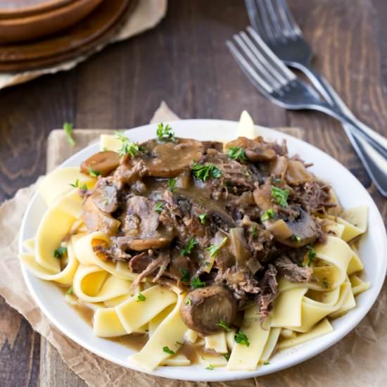
[[180, 315], [184, 324], [206, 336], [224, 330], [222, 320], [230, 326], [236, 317], [236, 300], [225, 286], [212, 285], [188, 293], [189, 302], [182, 303]]

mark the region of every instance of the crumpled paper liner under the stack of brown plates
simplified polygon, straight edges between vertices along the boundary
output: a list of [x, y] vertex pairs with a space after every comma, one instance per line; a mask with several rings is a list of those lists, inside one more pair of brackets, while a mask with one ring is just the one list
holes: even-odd
[[70, 70], [78, 63], [85, 61], [89, 58], [89, 56], [101, 51], [101, 49], [103, 49], [106, 45], [120, 42], [121, 40], [128, 39], [129, 37], [155, 27], [160, 20], [164, 18], [166, 12], [167, 0], [140, 0], [134, 11], [129, 13], [129, 17], [125, 25], [123, 25], [122, 29], [120, 29], [120, 32], [118, 32], [115, 37], [110, 39], [110, 42], [101, 44], [86, 55], [79, 56], [78, 58], [71, 59], [70, 61], [65, 61], [48, 68], [28, 70], [24, 72], [1, 72], [0, 89], [28, 82], [44, 74], [54, 74], [58, 71]]

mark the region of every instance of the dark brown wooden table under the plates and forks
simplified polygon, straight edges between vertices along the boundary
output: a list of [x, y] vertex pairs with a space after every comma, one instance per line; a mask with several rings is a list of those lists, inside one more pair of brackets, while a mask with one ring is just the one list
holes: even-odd
[[[157, 1], [157, 0], [155, 0]], [[289, 0], [315, 65], [364, 122], [387, 135], [386, 0]], [[243, 1], [170, 0], [154, 30], [115, 44], [70, 72], [0, 91], [0, 202], [45, 171], [46, 139], [75, 127], [146, 124], [164, 99], [182, 118], [237, 120], [307, 129], [306, 139], [334, 156], [383, 200], [335, 120], [291, 113], [266, 101], [239, 71], [224, 40], [248, 24]], [[0, 386], [84, 386], [46, 341], [0, 300]]]

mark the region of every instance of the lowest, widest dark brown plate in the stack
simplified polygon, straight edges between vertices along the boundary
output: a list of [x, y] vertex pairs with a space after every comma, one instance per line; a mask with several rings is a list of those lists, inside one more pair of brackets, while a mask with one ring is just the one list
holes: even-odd
[[[18, 60], [9, 61], [11, 46], [0, 46], [0, 71], [13, 72], [43, 68], [89, 54], [96, 47], [106, 44], [111, 37], [117, 34], [122, 27], [122, 23], [127, 20], [129, 13], [132, 13], [136, 5], [137, 0], [103, 1], [87, 18], [71, 27], [70, 30], [63, 32], [63, 35], [46, 39], [44, 42], [23, 45], [25, 52], [28, 52], [29, 55], [27, 59], [23, 59], [20, 51], [17, 51], [19, 46], [12, 46], [15, 54], [14, 58], [18, 58]], [[85, 36], [84, 30], [89, 32], [89, 39]], [[83, 44], [79, 44], [80, 40]], [[63, 42], [67, 47], [67, 51], [58, 47], [58, 42]], [[32, 45], [34, 45], [36, 51], [32, 49]], [[1, 61], [4, 49], [8, 49], [8, 61], [6, 62]], [[38, 49], [41, 51], [38, 51]], [[35, 53], [35, 56], [33, 53]]]

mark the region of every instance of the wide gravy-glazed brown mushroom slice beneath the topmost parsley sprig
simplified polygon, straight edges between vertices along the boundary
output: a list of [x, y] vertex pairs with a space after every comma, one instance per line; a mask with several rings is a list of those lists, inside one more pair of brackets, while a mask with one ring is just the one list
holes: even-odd
[[177, 177], [189, 167], [192, 160], [198, 161], [203, 156], [203, 145], [193, 139], [176, 139], [165, 143], [153, 139], [141, 146], [146, 148], [143, 158], [146, 175], [153, 177]]

